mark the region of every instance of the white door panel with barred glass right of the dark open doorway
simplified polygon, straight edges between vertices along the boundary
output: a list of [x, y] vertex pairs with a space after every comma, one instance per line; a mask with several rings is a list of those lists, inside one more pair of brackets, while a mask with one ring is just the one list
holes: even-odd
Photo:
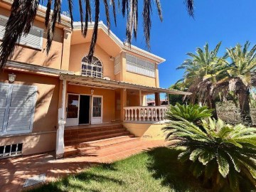
[[102, 97], [93, 96], [92, 97], [92, 124], [102, 123]]

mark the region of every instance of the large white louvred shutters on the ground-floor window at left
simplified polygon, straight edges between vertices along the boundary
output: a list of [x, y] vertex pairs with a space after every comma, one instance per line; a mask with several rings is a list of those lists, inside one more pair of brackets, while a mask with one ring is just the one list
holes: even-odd
[[32, 131], [36, 87], [0, 82], [0, 135]]

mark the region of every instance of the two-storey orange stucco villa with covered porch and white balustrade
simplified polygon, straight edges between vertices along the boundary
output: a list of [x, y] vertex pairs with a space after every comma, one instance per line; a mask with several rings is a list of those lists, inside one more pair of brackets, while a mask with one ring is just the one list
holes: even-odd
[[[0, 43], [11, 3], [0, 1]], [[100, 22], [88, 63], [93, 23], [84, 38], [80, 23], [72, 31], [67, 16], [47, 55], [45, 14], [41, 6], [31, 32], [0, 73], [0, 158], [46, 151], [60, 158], [65, 150], [74, 152], [75, 144], [129, 135], [163, 139], [166, 107], [159, 106], [159, 94], [187, 94], [159, 87], [158, 65], [165, 60], [130, 48]], [[156, 106], [146, 106], [151, 94]]]

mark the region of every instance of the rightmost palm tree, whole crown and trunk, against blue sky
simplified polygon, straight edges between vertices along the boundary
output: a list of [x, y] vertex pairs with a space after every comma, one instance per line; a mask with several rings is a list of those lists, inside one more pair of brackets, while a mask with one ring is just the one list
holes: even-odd
[[255, 85], [256, 79], [256, 45], [249, 50], [250, 43], [244, 46], [238, 44], [235, 48], [227, 48], [226, 55], [230, 58], [225, 61], [225, 72], [223, 78], [218, 80], [215, 92], [235, 92], [240, 107], [240, 117], [243, 123], [252, 124], [250, 117], [250, 90]]

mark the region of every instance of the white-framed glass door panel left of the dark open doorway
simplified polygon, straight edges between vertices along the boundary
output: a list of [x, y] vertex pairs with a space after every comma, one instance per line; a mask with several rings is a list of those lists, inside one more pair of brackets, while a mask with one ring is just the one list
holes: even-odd
[[68, 94], [66, 126], [78, 125], [79, 95]]

